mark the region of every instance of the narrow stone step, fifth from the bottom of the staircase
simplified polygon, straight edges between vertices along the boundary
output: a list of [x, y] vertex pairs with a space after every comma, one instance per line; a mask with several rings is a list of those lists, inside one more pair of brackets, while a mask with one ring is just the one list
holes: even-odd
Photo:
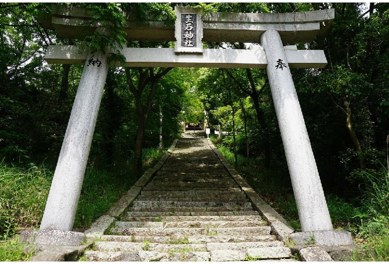
[[141, 222], [141, 221], [118, 221], [116, 228], [228, 228], [228, 227], [259, 227], [266, 226], [264, 221], [183, 221], [183, 222]]

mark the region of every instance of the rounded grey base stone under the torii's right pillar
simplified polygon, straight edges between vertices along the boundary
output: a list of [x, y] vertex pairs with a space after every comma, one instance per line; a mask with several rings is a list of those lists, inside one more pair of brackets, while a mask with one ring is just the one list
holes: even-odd
[[298, 232], [289, 235], [289, 240], [296, 245], [353, 245], [351, 233], [344, 230], [323, 230]]

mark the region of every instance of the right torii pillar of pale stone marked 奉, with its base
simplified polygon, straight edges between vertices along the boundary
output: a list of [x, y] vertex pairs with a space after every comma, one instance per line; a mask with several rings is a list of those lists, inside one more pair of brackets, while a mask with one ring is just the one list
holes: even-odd
[[[351, 235], [333, 231], [323, 187], [281, 37], [267, 30], [260, 37], [267, 58], [267, 77], [277, 114], [302, 233], [290, 236], [297, 244], [349, 245]], [[299, 234], [299, 235], [298, 235]]]

